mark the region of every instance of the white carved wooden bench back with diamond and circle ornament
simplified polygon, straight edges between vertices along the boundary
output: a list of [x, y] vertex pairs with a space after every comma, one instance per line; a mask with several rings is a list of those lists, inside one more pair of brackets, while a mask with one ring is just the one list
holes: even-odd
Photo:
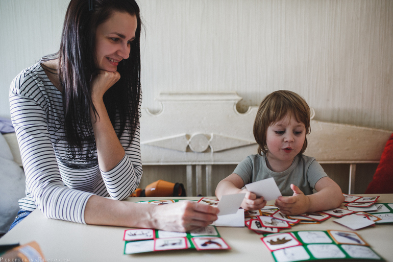
[[[205, 186], [207, 195], [213, 196], [211, 165], [237, 164], [257, 153], [253, 124], [258, 107], [239, 113], [236, 104], [241, 99], [236, 92], [161, 93], [160, 112], [142, 109], [143, 165], [186, 165], [187, 192], [193, 185], [196, 192]], [[320, 163], [350, 164], [348, 192], [353, 194], [356, 163], [378, 163], [391, 133], [311, 120], [304, 154]], [[206, 181], [202, 181], [203, 166]]]

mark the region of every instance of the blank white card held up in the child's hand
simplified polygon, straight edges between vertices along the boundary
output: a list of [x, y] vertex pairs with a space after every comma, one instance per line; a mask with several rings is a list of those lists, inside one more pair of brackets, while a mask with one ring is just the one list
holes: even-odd
[[245, 188], [257, 195], [257, 197], [263, 197], [266, 201], [275, 200], [282, 196], [273, 177], [247, 184]]

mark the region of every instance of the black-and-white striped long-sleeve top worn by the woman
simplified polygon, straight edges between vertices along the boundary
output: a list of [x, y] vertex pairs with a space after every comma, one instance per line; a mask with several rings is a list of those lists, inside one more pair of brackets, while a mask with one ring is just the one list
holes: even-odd
[[126, 151], [124, 158], [115, 168], [103, 172], [95, 144], [82, 149], [67, 144], [62, 93], [39, 62], [16, 76], [9, 98], [26, 174], [26, 197], [19, 200], [20, 208], [33, 211], [38, 207], [48, 218], [85, 223], [84, 210], [91, 195], [122, 200], [139, 185], [139, 125], [130, 146], [127, 130], [120, 137]]

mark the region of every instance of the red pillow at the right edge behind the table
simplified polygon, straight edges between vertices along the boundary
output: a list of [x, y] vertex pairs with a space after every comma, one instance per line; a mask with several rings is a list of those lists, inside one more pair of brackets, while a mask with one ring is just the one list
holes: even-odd
[[364, 194], [391, 193], [393, 193], [393, 134], [391, 134], [386, 142], [373, 180], [367, 186]]

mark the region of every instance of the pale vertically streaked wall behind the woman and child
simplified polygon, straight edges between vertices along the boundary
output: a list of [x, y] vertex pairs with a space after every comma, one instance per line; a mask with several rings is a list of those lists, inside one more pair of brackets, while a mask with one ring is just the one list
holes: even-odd
[[[86, 0], [87, 1], [87, 0]], [[316, 120], [393, 130], [393, 1], [140, 0], [143, 107], [234, 90], [240, 111], [289, 89]], [[0, 116], [12, 79], [59, 47], [68, 0], [0, 0]]]

